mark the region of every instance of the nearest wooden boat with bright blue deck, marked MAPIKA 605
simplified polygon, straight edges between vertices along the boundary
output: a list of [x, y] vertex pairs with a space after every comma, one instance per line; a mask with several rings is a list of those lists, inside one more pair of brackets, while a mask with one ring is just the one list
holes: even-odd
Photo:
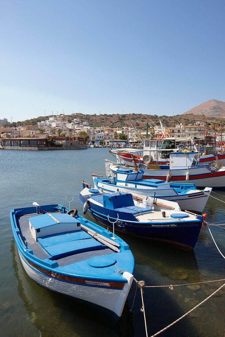
[[115, 321], [133, 280], [134, 258], [119, 237], [61, 205], [13, 209], [12, 232], [26, 273]]

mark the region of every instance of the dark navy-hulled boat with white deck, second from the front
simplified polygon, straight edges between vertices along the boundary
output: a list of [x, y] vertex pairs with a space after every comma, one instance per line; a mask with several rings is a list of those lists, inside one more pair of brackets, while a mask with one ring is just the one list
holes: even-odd
[[79, 199], [91, 217], [105, 226], [130, 235], [166, 241], [193, 249], [202, 226], [202, 215], [182, 212], [177, 203], [140, 198], [130, 193], [106, 193], [85, 187]]

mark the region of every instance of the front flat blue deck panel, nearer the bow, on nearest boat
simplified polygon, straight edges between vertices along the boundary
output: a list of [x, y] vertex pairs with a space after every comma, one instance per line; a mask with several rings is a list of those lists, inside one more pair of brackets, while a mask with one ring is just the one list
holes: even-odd
[[75, 240], [45, 247], [45, 251], [52, 257], [59, 258], [89, 250], [105, 249], [106, 246], [91, 238], [88, 240]]

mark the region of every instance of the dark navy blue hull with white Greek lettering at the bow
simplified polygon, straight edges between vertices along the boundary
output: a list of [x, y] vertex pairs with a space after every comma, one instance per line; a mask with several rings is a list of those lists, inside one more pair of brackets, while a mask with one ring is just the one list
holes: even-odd
[[[86, 199], [80, 194], [80, 201], [85, 203]], [[111, 219], [122, 219], [122, 212], [110, 210], [100, 207], [90, 202], [88, 209], [90, 216], [101, 224], [112, 228], [112, 224], [108, 221], [107, 216]], [[129, 213], [126, 213], [128, 215]], [[171, 219], [172, 220], [172, 219]], [[202, 216], [198, 215], [195, 221], [179, 221], [179, 224], [171, 221], [171, 224], [162, 224], [159, 222], [139, 223], [138, 221], [126, 220], [115, 223], [115, 230], [125, 234], [138, 236], [140, 238], [159, 240], [179, 246], [185, 250], [191, 250], [195, 247], [200, 229], [202, 226]]]

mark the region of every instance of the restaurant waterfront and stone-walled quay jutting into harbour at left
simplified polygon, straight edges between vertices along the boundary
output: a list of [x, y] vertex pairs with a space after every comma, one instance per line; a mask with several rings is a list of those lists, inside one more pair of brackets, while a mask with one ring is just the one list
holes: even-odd
[[1, 149], [5, 150], [84, 150], [87, 149], [85, 142], [79, 137], [35, 135], [30, 138], [2, 138]]

